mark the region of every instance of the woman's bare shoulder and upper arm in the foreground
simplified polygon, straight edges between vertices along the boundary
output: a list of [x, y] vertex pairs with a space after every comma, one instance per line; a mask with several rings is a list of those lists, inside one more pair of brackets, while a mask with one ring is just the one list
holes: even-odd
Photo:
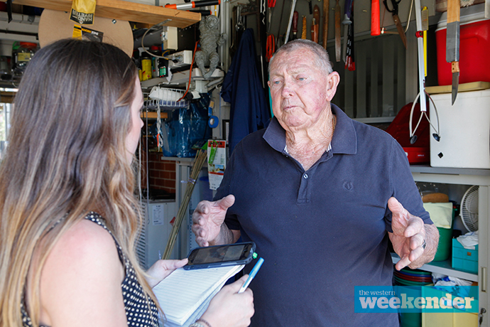
[[109, 323], [107, 314], [125, 319], [123, 279], [124, 267], [112, 236], [102, 226], [80, 220], [60, 237], [43, 266], [43, 322], [87, 326], [97, 320]]

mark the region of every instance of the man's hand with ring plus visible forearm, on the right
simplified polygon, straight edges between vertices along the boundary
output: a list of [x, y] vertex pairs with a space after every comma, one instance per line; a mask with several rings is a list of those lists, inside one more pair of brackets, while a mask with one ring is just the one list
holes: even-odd
[[400, 256], [396, 269], [406, 266], [416, 269], [432, 261], [439, 241], [437, 228], [434, 225], [425, 225], [422, 219], [405, 210], [396, 198], [388, 200], [388, 208], [393, 214], [393, 232], [388, 232], [388, 235], [393, 250]]

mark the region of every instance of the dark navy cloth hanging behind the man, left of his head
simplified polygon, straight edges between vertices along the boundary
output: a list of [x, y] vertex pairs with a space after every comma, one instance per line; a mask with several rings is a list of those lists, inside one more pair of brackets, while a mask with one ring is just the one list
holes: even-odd
[[241, 36], [221, 92], [224, 101], [231, 104], [229, 152], [251, 132], [267, 127], [269, 114], [266, 93], [256, 65], [254, 30], [247, 28]]

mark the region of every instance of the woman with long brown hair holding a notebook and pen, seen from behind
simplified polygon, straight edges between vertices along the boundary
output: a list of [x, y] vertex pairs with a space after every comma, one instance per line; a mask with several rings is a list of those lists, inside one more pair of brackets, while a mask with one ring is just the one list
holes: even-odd
[[[136, 66], [113, 45], [57, 41], [29, 63], [0, 164], [0, 327], [158, 326], [151, 288], [187, 259], [138, 266], [142, 105]], [[243, 282], [202, 326], [249, 325]]]

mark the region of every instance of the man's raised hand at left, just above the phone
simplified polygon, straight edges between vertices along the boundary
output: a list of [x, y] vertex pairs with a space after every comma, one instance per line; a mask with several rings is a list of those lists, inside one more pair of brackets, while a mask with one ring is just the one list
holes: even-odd
[[192, 213], [192, 232], [196, 235], [196, 242], [200, 247], [207, 247], [209, 243], [219, 243], [217, 239], [222, 231], [224, 217], [233, 203], [235, 197], [230, 194], [221, 200], [204, 200], [197, 204]]

